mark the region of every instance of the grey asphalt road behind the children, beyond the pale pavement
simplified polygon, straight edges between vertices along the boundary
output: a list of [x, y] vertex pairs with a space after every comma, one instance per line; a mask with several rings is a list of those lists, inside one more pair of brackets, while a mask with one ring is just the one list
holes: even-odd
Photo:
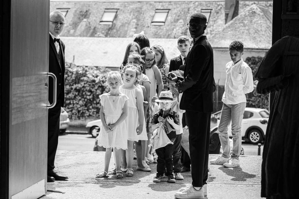
[[[92, 151], [95, 139], [90, 134], [63, 134], [58, 139], [58, 150]], [[242, 141], [244, 155], [258, 155], [258, 146]], [[263, 154], [263, 144], [261, 155]]]

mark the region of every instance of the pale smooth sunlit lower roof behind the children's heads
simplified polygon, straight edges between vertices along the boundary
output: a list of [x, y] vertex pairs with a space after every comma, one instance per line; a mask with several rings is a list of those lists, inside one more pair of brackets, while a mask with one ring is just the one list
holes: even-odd
[[[65, 44], [65, 60], [76, 65], [119, 67], [131, 38], [61, 37]], [[168, 61], [177, 57], [177, 39], [151, 39], [150, 45], [164, 48]]]

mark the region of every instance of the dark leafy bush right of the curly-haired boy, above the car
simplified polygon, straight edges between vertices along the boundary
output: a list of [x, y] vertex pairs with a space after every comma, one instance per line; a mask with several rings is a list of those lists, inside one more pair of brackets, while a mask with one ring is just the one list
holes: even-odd
[[254, 79], [254, 90], [253, 92], [246, 94], [247, 107], [268, 109], [269, 107], [269, 95], [261, 95], [256, 92], [256, 85], [258, 81], [255, 79], [255, 73], [259, 68], [259, 64], [262, 61], [262, 57], [247, 57], [245, 62], [252, 70], [253, 79]]

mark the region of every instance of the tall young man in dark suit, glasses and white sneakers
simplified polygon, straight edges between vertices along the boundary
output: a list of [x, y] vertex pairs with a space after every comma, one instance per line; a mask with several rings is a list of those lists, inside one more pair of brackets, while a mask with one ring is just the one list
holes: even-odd
[[[213, 49], [206, 39], [206, 16], [190, 16], [189, 32], [193, 46], [187, 55], [184, 79], [178, 81], [178, 91], [183, 92], [180, 108], [186, 110], [189, 127], [192, 185], [175, 193], [176, 198], [206, 196], [208, 178], [210, 121], [213, 111], [214, 64]], [[168, 78], [177, 78], [168, 73]]]

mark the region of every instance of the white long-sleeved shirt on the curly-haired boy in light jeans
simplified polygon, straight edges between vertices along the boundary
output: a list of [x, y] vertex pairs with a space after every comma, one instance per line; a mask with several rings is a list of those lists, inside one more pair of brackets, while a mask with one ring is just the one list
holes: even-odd
[[234, 64], [228, 62], [225, 66], [225, 90], [222, 96], [224, 104], [239, 104], [246, 102], [246, 93], [253, 91], [253, 76], [251, 68], [241, 60]]

